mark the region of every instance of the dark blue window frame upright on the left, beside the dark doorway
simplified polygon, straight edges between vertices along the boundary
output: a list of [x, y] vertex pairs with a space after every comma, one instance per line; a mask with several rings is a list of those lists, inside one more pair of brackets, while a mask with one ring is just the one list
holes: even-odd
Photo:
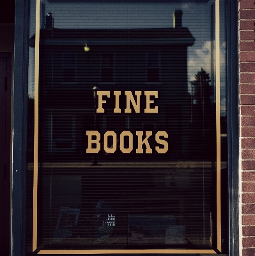
[[29, 0], [15, 1], [15, 44], [12, 92], [11, 251], [26, 255], [26, 124]]

